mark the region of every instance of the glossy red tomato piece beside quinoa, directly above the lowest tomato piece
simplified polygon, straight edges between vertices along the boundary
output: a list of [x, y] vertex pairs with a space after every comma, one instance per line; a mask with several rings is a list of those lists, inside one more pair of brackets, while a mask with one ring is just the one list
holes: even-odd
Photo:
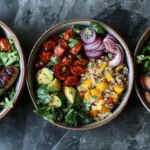
[[81, 66], [71, 66], [70, 71], [73, 75], [79, 76], [85, 73], [85, 69]]

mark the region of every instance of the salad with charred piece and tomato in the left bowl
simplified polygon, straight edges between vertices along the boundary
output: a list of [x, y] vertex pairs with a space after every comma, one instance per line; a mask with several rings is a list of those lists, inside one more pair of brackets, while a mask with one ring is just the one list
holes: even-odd
[[19, 54], [10, 37], [0, 33], [0, 109], [13, 108], [14, 82], [19, 75]]

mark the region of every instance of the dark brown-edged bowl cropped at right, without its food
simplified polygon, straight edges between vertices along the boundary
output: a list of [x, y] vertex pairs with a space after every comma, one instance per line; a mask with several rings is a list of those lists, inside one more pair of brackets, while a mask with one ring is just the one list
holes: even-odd
[[137, 61], [136, 57], [137, 55], [140, 54], [142, 50], [142, 46], [148, 38], [150, 38], [150, 27], [143, 33], [143, 35], [141, 36], [136, 46], [136, 49], [134, 52], [134, 71], [135, 71], [135, 89], [136, 89], [137, 95], [140, 101], [142, 102], [142, 104], [145, 106], [145, 108], [150, 112], [150, 104], [144, 98], [144, 94], [142, 92], [143, 89], [141, 88], [141, 85], [139, 82], [141, 69], [138, 67], [138, 64], [136, 63]]

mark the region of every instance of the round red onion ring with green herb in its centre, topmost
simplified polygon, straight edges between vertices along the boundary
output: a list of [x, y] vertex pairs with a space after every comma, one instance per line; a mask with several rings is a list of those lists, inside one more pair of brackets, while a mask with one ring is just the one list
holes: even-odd
[[92, 27], [88, 27], [88, 30], [92, 32], [91, 35], [86, 34], [86, 28], [82, 30], [81, 32], [81, 39], [83, 40], [84, 43], [91, 43], [96, 39], [96, 32]]

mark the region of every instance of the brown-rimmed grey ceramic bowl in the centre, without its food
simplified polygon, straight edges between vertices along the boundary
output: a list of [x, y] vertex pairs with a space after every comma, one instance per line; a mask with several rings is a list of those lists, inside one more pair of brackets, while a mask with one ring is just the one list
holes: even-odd
[[58, 25], [55, 25], [54, 27], [50, 28], [49, 30], [47, 30], [40, 38], [39, 40], [35, 43], [30, 56], [29, 56], [29, 60], [28, 60], [28, 65], [27, 65], [27, 86], [28, 86], [28, 90], [30, 93], [30, 96], [32, 98], [33, 104], [35, 106], [35, 108], [37, 108], [37, 104], [36, 104], [36, 96], [35, 96], [35, 91], [36, 91], [36, 81], [35, 81], [35, 63], [39, 54], [39, 51], [41, 49], [41, 45], [44, 41], [46, 41], [49, 37], [51, 37], [52, 35], [57, 35], [59, 33], [64, 32], [65, 30], [67, 30], [68, 28], [70, 28], [73, 24], [82, 24], [82, 25], [86, 25], [89, 26], [90, 25], [90, 21], [93, 22], [97, 22], [99, 24], [101, 24], [104, 29], [112, 34], [121, 44], [121, 46], [124, 48], [124, 52], [125, 52], [125, 59], [127, 62], [127, 66], [129, 68], [129, 85], [126, 89], [126, 92], [124, 93], [123, 97], [122, 97], [122, 101], [120, 103], [120, 105], [118, 105], [116, 107], [116, 109], [113, 111], [112, 116], [107, 117], [106, 119], [100, 121], [100, 122], [93, 122], [91, 124], [88, 125], [83, 125], [83, 126], [78, 126], [78, 127], [68, 127], [65, 126], [63, 124], [59, 124], [59, 123], [53, 123], [56, 126], [62, 127], [62, 128], [66, 128], [66, 129], [72, 129], [72, 130], [87, 130], [87, 129], [92, 129], [92, 128], [96, 128], [99, 126], [102, 126], [106, 123], [108, 123], [109, 121], [113, 120], [125, 107], [125, 105], [127, 104], [127, 101], [129, 99], [131, 90], [132, 90], [132, 85], [133, 85], [133, 76], [134, 76], [134, 69], [133, 69], [133, 63], [132, 63], [132, 58], [130, 55], [130, 51], [126, 45], [126, 43], [124, 42], [124, 40], [112, 29], [110, 28], [108, 25], [105, 25], [101, 22], [98, 21], [94, 21], [94, 20], [88, 20], [88, 19], [77, 19], [77, 20], [70, 20], [67, 22], [63, 22], [60, 23]]

